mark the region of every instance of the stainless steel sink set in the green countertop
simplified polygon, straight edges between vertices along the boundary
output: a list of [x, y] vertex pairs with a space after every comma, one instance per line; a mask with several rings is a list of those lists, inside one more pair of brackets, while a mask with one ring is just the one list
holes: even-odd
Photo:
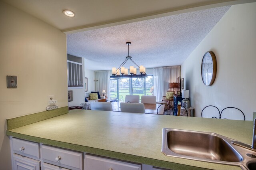
[[216, 133], [163, 128], [162, 153], [166, 156], [240, 166], [244, 170], [255, 167], [256, 150], [246, 149], [232, 141], [236, 143]]

